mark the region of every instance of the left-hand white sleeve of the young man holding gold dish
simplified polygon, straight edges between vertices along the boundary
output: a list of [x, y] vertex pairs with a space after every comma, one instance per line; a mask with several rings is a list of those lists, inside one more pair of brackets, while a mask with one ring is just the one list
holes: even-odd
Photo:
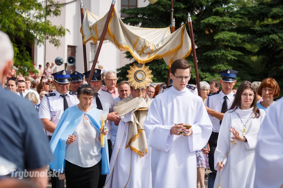
[[157, 108], [157, 100], [153, 100], [151, 103], [147, 118], [144, 121], [144, 130], [147, 136], [147, 144], [161, 151], [169, 151], [173, 141], [173, 134], [170, 134], [170, 130], [172, 128], [171, 125], [162, 125], [162, 117]]

